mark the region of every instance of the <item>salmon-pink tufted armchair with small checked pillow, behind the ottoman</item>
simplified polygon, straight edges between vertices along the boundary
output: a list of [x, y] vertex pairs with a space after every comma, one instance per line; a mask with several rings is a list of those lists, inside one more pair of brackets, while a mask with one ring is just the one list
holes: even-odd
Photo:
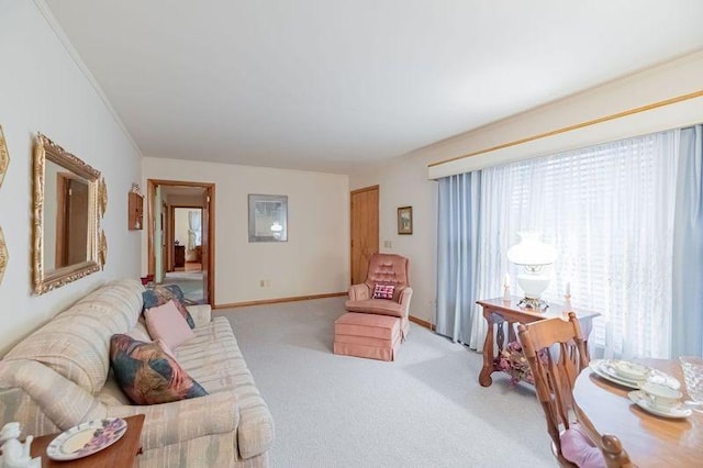
[[[392, 315], [401, 320], [401, 334], [410, 330], [408, 319], [413, 289], [409, 279], [410, 260], [395, 254], [373, 254], [366, 281], [349, 287], [344, 307], [349, 312]], [[376, 292], [376, 294], [375, 294]]]

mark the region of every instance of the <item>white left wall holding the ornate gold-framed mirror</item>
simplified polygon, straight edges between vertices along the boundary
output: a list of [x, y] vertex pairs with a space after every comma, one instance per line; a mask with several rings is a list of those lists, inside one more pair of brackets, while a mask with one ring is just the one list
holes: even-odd
[[[0, 285], [0, 355], [107, 280], [140, 272], [140, 236], [126, 226], [127, 191], [140, 180], [140, 154], [35, 3], [0, 0], [0, 125], [10, 167], [0, 187], [0, 226], [10, 253]], [[32, 149], [42, 132], [102, 171], [104, 271], [43, 296], [32, 291]], [[134, 233], [134, 234], [133, 234]]]

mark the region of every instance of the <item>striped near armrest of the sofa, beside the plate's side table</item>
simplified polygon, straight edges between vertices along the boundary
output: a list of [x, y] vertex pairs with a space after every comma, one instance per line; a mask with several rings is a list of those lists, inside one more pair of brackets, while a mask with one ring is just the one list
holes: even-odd
[[235, 431], [239, 411], [233, 391], [150, 405], [107, 406], [108, 415], [146, 415], [142, 430], [144, 450], [193, 438]]

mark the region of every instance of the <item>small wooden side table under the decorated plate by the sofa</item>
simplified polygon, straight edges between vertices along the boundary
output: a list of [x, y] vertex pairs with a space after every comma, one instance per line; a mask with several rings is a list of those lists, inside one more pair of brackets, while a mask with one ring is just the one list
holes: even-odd
[[60, 468], [125, 468], [136, 466], [136, 457], [142, 453], [142, 427], [144, 426], [144, 414], [125, 417], [127, 431], [122, 437], [111, 446], [77, 460], [56, 461], [46, 455], [46, 447], [60, 433], [43, 435], [32, 442], [32, 457], [42, 457], [42, 467]]

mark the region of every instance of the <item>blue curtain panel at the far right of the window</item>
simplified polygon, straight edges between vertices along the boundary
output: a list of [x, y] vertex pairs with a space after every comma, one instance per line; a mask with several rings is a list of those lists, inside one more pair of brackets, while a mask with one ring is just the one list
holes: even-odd
[[703, 356], [703, 125], [681, 130], [671, 356]]

